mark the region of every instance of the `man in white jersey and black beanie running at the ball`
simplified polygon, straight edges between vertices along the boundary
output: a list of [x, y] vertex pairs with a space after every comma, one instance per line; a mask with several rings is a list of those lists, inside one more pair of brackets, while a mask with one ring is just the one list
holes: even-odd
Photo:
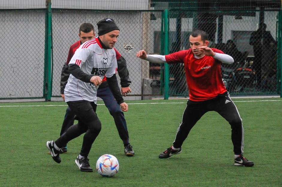
[[85, 172], [93, 172], [88, 154], [101, 131], [101, 122], [96, 115], [96, 94], [104, 76], [121, 110], [128, 110], [117, 83], [117, 59], [113, 49], [120, 29], [113, 19], [102, 19], [97, 25], [99, 37], [80, 45], [70, 60], [71, 75], [64, 89], [65, 102], [78, 116], [78, 124], [71, 126], [56, 141], [46, 143], [53, 160], [60, 163], [60, 149], [70, 140], [85, 133], [82, 149], [75, 161], [79, 169]]

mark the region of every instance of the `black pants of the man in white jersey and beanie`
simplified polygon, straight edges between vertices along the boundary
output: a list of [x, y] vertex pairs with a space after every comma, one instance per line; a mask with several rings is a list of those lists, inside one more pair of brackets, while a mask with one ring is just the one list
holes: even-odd
[[96, 115], [97, 105], [90, 101], [68, 101], [70, 109], [79, 117], [78, 124], [72, 125], [55, 141], [59, 148], [64, 147], [72, 139], [85, 133], [83, 137], [81, 156], [88, 156], [91, 146], [101, 131], [101, 122]]

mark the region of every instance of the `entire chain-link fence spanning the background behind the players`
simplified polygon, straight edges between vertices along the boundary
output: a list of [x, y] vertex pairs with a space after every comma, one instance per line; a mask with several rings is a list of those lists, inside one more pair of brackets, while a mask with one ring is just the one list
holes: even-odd
[[[46, 10], [1, 10], [2, 31], [0, 99], [45, 98], [44, 53]], [[79, 40], [79, 26], [97, 25], [112, 18], [120, 28], [115, 48], [127, 61], [132, 80], [131, 99], [163, 95], [164, 66], [141, 60], [135, 54], [164, 54], [188, 49], [189, 34], [200, 28], [209, 34], [209, 47], [230, 54], [235, 63], [222, 65], [222, 77], [231, 95], [277, 95], [281, 80], [278, 55], [277, 10], [197, 11], [169, 10], [168, 38], [164, 36], [163, 10], [52, 9], [52, 97], [60, 97], [60, 76], [70, 45]], [[266, 27], [266, 28], [264, 28]], [[96, 34], [97, 36], [97, 34]], [[118, 81], [119, 77], [118, 77]], [[188, 96], [184, 67], [169, 66], [169, 96]]]

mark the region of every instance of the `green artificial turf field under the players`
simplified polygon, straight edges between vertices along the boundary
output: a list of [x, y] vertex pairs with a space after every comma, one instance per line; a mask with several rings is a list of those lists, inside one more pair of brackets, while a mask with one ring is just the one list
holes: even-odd
[[0, 186], [282, 186], [282, 98], [233, 101], [243, 119], [245, 156], [254, 167], [233, 165], [231, 128], [216, 112], [198, 121], [181, 154], [159, 159], [174, 141], [186, 100], [127, 101], [125, 116], [135, 156], [126, 157], [114, 120], [99, 101], [102, 130], [89, 159], [95, 169], [99, 156], [116, 156], [120, 168], [111, 178], [79, 171], [75, 159], [83, 136], [69, 142], [60, 164], [47, 154], [46, 141], [60, 134], [64, 102], [0, 103]]

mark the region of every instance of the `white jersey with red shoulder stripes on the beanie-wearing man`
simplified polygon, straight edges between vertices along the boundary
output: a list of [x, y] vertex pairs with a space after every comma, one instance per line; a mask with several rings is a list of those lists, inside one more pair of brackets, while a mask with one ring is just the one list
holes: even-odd
[[[69, 65], [76, 64], [80, 69], [93, 76], [112, 77], [117, 73], [117, 59], [114, 49], [103, 49], [98, 38], [83, 43], [74, 53]], [[70, 74], [64, 90], [65, 102], [97, 101], [98, 86], [86, 83]]]

